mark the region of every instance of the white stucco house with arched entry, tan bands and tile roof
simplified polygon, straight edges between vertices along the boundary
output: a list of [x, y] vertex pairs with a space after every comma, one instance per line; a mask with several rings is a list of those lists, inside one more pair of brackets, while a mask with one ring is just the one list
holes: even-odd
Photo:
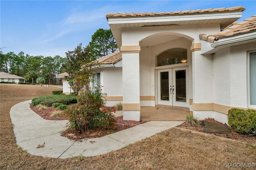
[[118, 67], [97, 70], [108, 104], [122, 101], [123, 119], [135, 121], [141, 106], [222, 123], [232, 107], [256, 108], [256, 16], [235, 22], [244, 10], [107, 14], [122, 54]]

